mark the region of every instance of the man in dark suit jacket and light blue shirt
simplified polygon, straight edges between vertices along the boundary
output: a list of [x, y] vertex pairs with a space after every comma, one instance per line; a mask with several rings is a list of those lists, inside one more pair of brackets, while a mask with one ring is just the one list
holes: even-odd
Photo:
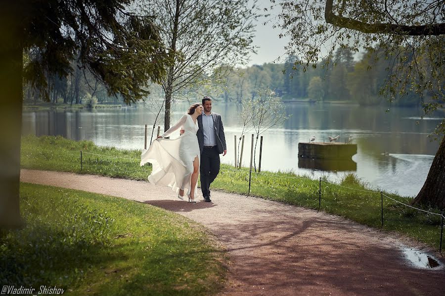
[[212, 112], [212, 99], [204, 97], [202, 107], [204, 112], [198, 116], [199, 130], [196, 133], [201, 151], [201, 191], [204, 201], [211, 202], [210, 184], [220, 172], [220, 154], [224, 156], [227, 147], [223, 121], [220, 114]]

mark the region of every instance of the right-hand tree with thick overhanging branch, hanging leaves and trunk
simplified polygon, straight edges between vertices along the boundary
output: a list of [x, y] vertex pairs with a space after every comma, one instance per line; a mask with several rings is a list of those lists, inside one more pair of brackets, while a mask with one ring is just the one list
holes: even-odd
[[[324, 55], [350, 47], [374, 54], [374, 61], [388, 59], [380, 95], [391, 102], [396, 94], [414, 91], [427, 115], [444, 102], [444, 6], [442, 0], [284, 0], [279, 27], [291, 36], [289, 53], [300, 52], [306, 68], [323, 56], [321, 48], [328, 48]], [[442, 138], [439, 151], [444, 151], [445, 120], [434, 133]], [[443, 176], [444, 167], [445, 158], [436, 155], [424, 185], [436, 190], [420, 190], [414, 204], [444, 208], [445, 182], [431, 178]]]

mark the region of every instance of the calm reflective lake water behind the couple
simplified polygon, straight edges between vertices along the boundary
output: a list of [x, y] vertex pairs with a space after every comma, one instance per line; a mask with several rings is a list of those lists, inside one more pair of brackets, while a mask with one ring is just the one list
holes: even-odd
[[[188, 103], [175, 106], [173, 123], [188, 106]], [[415, 196], [425, 182], [439, 147], [438, 141], [431, 142], [427, 135], [445, 116], [438, 112], [417, 124], [420, 111], [410, 108], [392, 108], [385, 112], [380, 107], [344, 104], [285, 103], [285, 106], [287, 114], [292, 116], [283, 126], [262, 134], [262, 170], [293, 171], [313, 179], [327, 175], [332, 181], [352, 172], [372, 188], [403, 196]], [[227, 154], [221, 159], [234, 164], [234, 135], [239, 138], [242, 129], [237, 107], [214, 102], [213, 111], [222, 115], [227, 142]], [[73, 140], [91, 140], [99, 146], [141, 149], [144, 125], [150, 126], [150, 136], [154, 118], [142, 105], [93, 111], [24, 111], [22, 134], [61, 135]], [[163, 123], [159, 125], [162, 132]], [[250, 163], [251, 133], [245, 139], [243, 166]], [[298, 143], [308, 142], [311, 136], [315, 136], [315, 142], [328, 142], [328, 136], [337, 135], [340, 142], [352, 135], [353, 143], [357, 144], [357, 153], [351, 161], [299, 160]]]

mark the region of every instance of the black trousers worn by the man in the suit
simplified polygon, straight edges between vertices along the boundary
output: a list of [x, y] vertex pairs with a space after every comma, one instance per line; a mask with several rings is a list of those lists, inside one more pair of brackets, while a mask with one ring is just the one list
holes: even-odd
[[205, 147], [201, 153], [201, 191], [202, 196], [210, 196], [210, 184], [215, 180], [220, 172], [220, 153], [216, 146], [209, 148]]

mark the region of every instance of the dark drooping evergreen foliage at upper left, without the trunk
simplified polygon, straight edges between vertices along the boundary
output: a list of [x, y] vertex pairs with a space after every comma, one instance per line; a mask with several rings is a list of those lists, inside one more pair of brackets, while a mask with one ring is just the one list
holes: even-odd
[[[12, 1], [11, 1], [12, 2]], [[34, 57], [24, 76], [45, 90], [45, 73], [66, 76], [77, 59], [127, 104], [148, 93], [150, 81], [160, 83], [169, 57], [159, 28], [150, 16], [137, 16], [131, 0], [20, 0], [23, 49]], [[46, 94], [47, 96], [47, 94]]]

